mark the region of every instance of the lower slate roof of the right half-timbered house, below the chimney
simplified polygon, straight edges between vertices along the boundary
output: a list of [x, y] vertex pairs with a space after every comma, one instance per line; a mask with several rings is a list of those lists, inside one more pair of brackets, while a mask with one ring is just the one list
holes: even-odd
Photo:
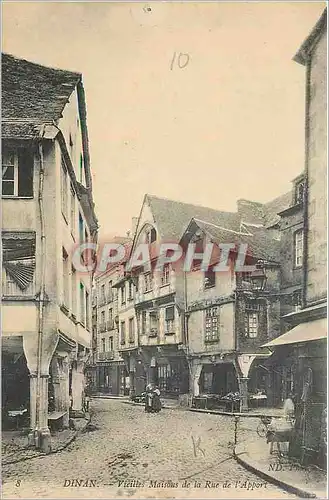
[[228, 228], [215, 226], [196, 218], [194, 220], [200, 229], [209, 234], [214, 243], [245, 243], [248, 245], [248, 251], [255, 258], [279, 262], [280, 242], [273, 239], [265, 228], [252, 228], [253, 234], [246, 234], [233, 232]]

